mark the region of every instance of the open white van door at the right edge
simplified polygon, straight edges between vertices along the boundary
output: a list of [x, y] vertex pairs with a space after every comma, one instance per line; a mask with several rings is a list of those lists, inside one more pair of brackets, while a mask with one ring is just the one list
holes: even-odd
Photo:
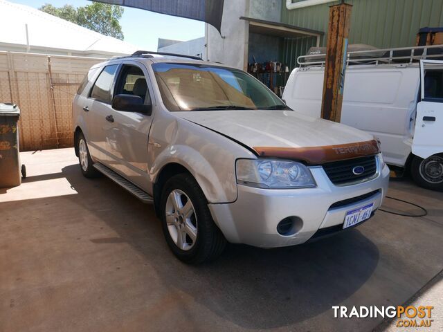
[[443, 152], [443, 61], [421, 60], [420, 79], [413, 154], [428, 158]]

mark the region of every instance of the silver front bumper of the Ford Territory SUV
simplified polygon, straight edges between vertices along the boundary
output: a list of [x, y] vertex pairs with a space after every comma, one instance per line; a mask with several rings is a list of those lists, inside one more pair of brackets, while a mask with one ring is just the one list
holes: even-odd
[[[226, 239], [262, 248], [304, 243], [322, 229], [338, 228], [349, 210], [372, 202], [373, 211], [377, 210], [388, 191], [386, 165], [379, 169], [376, 178], [345, 186], [329, 181], [322, 167], [310, 169], [317, 183], [315, 188], [270, 190], [237, 185], [237, 201], [209, 204], [213, 219]], [[357, 196], [363, 199], [354, 200]], [[340, 206], [332, 207], [337, 202], [341, 202], [336, 204]], [[302, 223], [294, 234], [281, 235], [277, 225], [287, 217], [296, 217]]]

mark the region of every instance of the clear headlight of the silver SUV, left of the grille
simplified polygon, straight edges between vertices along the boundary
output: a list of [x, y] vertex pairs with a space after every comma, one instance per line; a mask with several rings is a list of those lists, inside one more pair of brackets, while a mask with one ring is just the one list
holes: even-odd
[[261, 188], [316, 187], [309, 169], [302, 163], [287, 160], [239, 159], [237, 183]]

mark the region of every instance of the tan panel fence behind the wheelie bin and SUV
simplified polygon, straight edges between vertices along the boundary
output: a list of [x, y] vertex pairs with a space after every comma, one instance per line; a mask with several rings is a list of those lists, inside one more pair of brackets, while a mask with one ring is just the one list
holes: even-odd
[[73, 146], [75, 91], [89, 68], [103, 60], [0, 51], [0, 102], [21, 109], [21, 151]]

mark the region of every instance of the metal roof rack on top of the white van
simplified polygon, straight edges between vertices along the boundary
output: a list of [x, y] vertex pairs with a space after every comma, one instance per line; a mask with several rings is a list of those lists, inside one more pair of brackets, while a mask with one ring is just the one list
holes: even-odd
[[[372, 57], [369, 53], [373, 53]], [[382, 54], [380, 56], [380, 54]], [[325, 54], [302, 55], [297, 58], [300, 67], [307, 66], [325, 66]], [[375, 66], [379, 64], [412, 64], [421, 59], [443, 59], [443, 45], [415, 46], [401, 48], [383, 48], [376, 50], [356, 50], [348, 52], [346, 64], [349, 65], [368, 65]]]

